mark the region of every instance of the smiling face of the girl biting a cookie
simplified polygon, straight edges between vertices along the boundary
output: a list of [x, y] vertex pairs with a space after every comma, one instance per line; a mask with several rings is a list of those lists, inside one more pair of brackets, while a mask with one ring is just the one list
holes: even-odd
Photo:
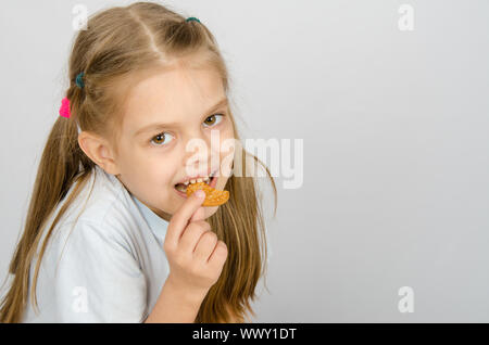
[[[222, 81], [212, 71], [181, 67], [143, 79], [126, 99], [116, 176], [160, 217], [170, 220], [181, 206], [186, 196], [175, 184], [189, 176], [218, 169], [215, 188], [224, 189], [229, 176], [223, 174], [228, 175], [230, 164], [225, 168], [223, 162], [231, 162], [226, 156], [233, 151], [220, 152], [220, 148], [234, 138], [234, 130], [227, 104], [213, 107], [224, 99]], [[147, 128], [153, 124], [168, 125]], [[213, 148], [211, 130], [218, 131]], [[196, 139], [206, 152], [186, 148]], [[217, 207], [204, 207], [205, 217]]]

